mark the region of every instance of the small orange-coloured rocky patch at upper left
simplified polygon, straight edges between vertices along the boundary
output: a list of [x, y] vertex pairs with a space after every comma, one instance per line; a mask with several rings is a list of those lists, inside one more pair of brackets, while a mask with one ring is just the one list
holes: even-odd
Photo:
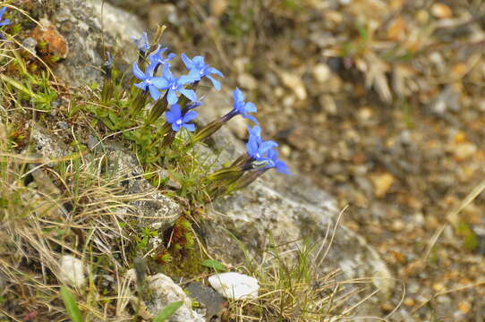
[[32, 38], [36, 39], [39, 44], [47, 43], [47, 55], [54, 55], [59, 58], [66, 58], [69, 54], [69, 46], [67, 40], [55, 28], [55, 25], [47, 19], [42, 19], [32, 34]]

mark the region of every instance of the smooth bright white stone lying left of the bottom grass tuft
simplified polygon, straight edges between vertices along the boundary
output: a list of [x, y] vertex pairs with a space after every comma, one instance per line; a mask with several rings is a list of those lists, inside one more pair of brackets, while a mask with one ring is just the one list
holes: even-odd
[[216, 274], [208, 277], [208, 283], [226, 299], [256, 299], [260, 284], [254, 277], [235, 272]]

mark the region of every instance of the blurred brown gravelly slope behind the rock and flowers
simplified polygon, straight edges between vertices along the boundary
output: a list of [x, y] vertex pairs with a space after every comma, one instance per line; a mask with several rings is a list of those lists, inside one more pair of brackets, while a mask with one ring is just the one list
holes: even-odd
[[350, 206], [343, 225], [406, 285], [383, 313], [485, 319], [485, 2], [109, 2], [205, 55], [294, 173]]

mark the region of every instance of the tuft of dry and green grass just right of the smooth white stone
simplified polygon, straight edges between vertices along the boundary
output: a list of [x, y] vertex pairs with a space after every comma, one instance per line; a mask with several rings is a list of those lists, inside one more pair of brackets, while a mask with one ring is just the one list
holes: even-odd
[[[333, 238], [333, 237], [332, 237]], [[240, 269], [260, 282], [255, 300], [230, 302], [231, 321], [382, 320], [361, 317], [362, 304], [379, 292], [373, 278], [345, 279], [339, 269], [325, 271], [330, 242], [294, 242], [264, 252], [259, 263], [248, 260]], [[327, 246], [327, 247], [325, 247]]]

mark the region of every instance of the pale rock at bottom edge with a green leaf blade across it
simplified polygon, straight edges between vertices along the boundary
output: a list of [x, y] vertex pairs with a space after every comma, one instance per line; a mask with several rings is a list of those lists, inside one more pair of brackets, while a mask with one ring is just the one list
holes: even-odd
[[191, 309], [191, 299], [183, 292], [182, 287], [166, 275], [157, 274], [147, 278], [147, 285], [151, 291], [151, 301], [147, 301], [147, 309], [153, 316], [174, 301], [183, 301], [183, 306], [177, 309], [168, 319], [170, 322], [204, 322], [197, 312]]

